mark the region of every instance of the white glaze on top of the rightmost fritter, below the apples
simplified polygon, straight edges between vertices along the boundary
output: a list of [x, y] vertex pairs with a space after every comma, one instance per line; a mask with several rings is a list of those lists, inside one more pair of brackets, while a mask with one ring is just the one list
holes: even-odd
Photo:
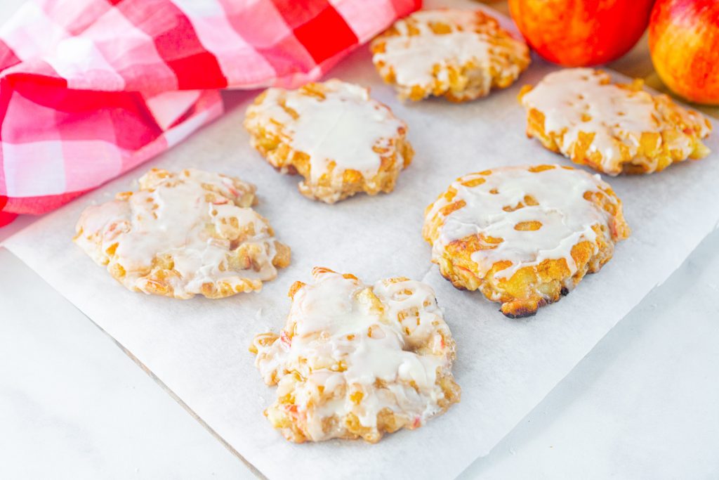
[[[617, 175], [622, 171], [623, 162], [620, 145], [626, 145], [634, 157], [642, 132], [661, 132], [667, 125], [661, 121], [649, 92], [620, 89], [607, 81], [610, 81], [607, 73], [592, 68], [566, 68], [549, 73], [521, 102], [527, 109], [544, 114], [544, 130], [548, 135], [564, 132], [557, 142], [569, 158], [573, 156], [580, 132], [594, 133], [589, 152], [598, 151], [602, 155], [602, 171]], [[701, 126], [700, 137], [709, 134], [700, 114], [679, 105], [674, 107], [685, 124]], [[682, 150], [684, 158], [692, 152], [684, 136], [677, 137], [670, 148]]]

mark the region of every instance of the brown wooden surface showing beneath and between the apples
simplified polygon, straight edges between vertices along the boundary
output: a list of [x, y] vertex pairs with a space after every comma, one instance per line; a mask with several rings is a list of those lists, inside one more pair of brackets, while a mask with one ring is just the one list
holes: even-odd
[[[509, 6], [507, 0], [482, 0], [483, 4], [491, 6], [493, 9], [502, 12], [503, 14], [509, 15]], [[607, 66], [612, 68], [619, 73], [623, 73], [626, 76], [635, 78], [643, 78], [646, 86], [661, 91], [662, 93], [669, 94], [674, 98], [677, 98], [684, 103], [689, 103], [686, 100], [679, 98], [672, 94], [667, 86], [661, 82], [661, 79], [654, 71], [654, 65], [651, 63], [651, 57], [649, 55], [649, 41], [647, 40], [647, 34], [644, 32], [644, 36], [634, 45], [626, 55], [622, 58], [608, 63]], [[707, 105], [691, 104], [697, 110], [704, 112], [712, 117], [719, 118], [719, 107], [709, 107]]]

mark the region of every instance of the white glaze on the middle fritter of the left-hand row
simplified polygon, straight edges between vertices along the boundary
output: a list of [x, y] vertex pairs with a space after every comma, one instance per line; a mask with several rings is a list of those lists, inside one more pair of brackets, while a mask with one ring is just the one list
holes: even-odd
[[[301, 89], [267, 89], [264, 101], [247, 109], [248, 122], [275, 129], [293, 150], [309, 155], [312, 183], [329, 171], [331, 161], [333, 184], [341, 186], [347, 170], [359, 171], [365, 178], [375, 176], [381, 163], [375, 148], [390, 148], [390, 139], [406, 124], [371, 99], [362, 86], [336, 79], [322, 85], [324, 99]], [[298, 114], [297, 119], [281, 107], [283, 102]], [[403, 165], [401, 159], [399, 163]]]

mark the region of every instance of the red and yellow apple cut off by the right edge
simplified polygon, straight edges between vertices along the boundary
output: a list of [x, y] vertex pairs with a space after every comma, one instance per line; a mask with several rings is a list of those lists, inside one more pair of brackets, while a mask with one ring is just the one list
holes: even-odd
[[656, 73], [675, 94], [719, 105], [718, 0], [658, 0], [649, 50]]

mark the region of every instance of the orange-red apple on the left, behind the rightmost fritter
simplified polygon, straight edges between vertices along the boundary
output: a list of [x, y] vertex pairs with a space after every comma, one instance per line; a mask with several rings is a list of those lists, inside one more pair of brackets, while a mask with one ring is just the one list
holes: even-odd
[[528, 44], [566, 67], [598, 65], [631, 50], [644, 34], [654, 0], [509, 0]]

